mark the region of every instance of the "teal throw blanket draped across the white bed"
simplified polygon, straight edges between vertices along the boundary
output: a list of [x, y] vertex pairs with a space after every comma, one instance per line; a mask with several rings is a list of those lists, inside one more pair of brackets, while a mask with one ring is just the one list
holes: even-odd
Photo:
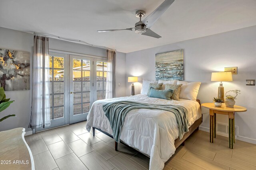
[[106, 117], [110, 121], [110, 125], [113, 131], [113, 137], [116, 142], [120, 142], [120, 131], [122, 125], [124, 124], [124, 118], [126, 117], [127, 113], [132, 109], [157, 109], [170, 111], [174, 113], [176, 117], [180, 139], [182, 139], [184, 133], [188, 132], [188, 111], [183, 106], [156, 105], [132, 101], [118, 101], [103, 105], [103, 110]]

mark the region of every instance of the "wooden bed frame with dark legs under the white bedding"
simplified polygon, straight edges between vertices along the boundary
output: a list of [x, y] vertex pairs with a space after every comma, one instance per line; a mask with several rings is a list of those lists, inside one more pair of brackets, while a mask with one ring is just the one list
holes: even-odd
[[[200, 100], [197, 99], [196, 102], [198, 102], [198, 103], [200, 104], [200, 109], [201, 109], [201, 102], [200, 102]], [[185, 140], [186, 140], [196, 129], [199, 130], [199, 126], [201, 125], [202, 121], [203, 121], [203, 115], [202, 115], [198, 120], [196, 120], [196, 121], [193, 123], [193, 125], [191, 125], [191, 126], [189, 127], [189, 129], [188, 129], [189, 131], [184, 134], [184, 136], [183, 136], [183, 138], [182, 138], [181, 140], [176, 139], [176, 140], [174, 141], [174, 146], [175, 146], [176, 149], [177, 149], [180, 145], [184, 146], [184, 145], [185, 145]], [[97, 129], [98, 131], [104, 133], [105, 135], [108, 135], [109, 137], [113, 138], [112, 135], [110, 135], [110, 134], [108, 134], [108, 133], [106, 133], [106, 132], [104, 132], [104, 131], [102, 131], [101, 129], [98, 129], [98, 128], [96, 128], [96, 127], [92, 127], [92, 135], [93, 135], [93, 136], [95, 135], [95, 129]], [[124, 142], [121, 141], [121, 140], [120, 140], [120, 143], [122, 143], [122, 144], [124, 144], [124, 145], [130, 147], [129, 145], [127, 145], [126, 143], [124, 143]], [[118, 147], [118, 143], [115, 141], [115, 150], [116, 150], [116, 151], [117, 151], [117, 147]], [[133, 147], [132, 147], [132, 148], [133, 148]], [[134, 148], [134, 149], [135, 149], [135, 148]], [[138, 150], [138, 149], [136, 149], [136, 150]], [[146, 156], [149, 157], [149, 155], [146, 155]]]

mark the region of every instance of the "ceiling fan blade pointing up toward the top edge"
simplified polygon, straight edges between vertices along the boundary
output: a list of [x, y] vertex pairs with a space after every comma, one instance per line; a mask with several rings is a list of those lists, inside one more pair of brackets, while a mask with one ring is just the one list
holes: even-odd
[[169, 6], [174, 2], [174, 0], [165, 0], [160, 6], [158, 6], [147, 18], [142, 20], [147, 28], [152, 27], [152, 25], [164, 14], [164, 12], [169, 8]]

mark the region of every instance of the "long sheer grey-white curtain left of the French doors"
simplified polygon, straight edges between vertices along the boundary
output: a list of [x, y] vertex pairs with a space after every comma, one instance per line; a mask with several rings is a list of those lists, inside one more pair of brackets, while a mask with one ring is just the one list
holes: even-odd
[[32, 63], [32, 129], [50, 126], [50, 77], [48, 37], [34, 35]]

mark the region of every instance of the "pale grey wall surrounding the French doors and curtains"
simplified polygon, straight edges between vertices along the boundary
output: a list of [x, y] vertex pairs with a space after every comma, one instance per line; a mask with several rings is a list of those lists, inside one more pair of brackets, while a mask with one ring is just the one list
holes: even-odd
[[[32, 62], [33, 41], [33, 34], [0, 27], [0, 49], [3, 48], [29, 51], [31, 54], [30, 64]], [[106, 57], [106, 49], [90, 47], [88, 45], [62, 41], [59, 39], [50, 38], [49, 48], [60, 51]], [[125, 62], [126, 54], [116, 52], [116, 96], [118, 97], [126, 95]], [[30, 72], [30, 74], [32, 75], [32, 72]], [[118, 82], [121, 83], [120, 87], [118, 86]], [[30, 76], [30, 87], [31, 83], [32, 80]], [[16, 114], [16, 117], [10, 117], [0, 122], [0, 131], [13, 129], [16, 127], [24, 127], [26, 128], [26, 131], [30, 131], [31, 129], [28, 128], [28, 124], [30, 121], [31, 90], [6, 91], [6, 96], [12, 100], [15, 100], [15, 102], [11, 104], [10, 107], [8, 107], [6, 110], [0, 112], [0, 118], [8, 114]]]

